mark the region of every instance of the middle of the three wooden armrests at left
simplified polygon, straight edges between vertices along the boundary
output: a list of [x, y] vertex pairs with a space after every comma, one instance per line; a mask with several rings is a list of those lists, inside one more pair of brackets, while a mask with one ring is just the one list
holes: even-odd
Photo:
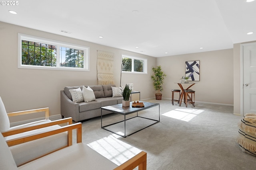
[[67, 118], [64, 118], [64, 119], [58, 119], [58, 120], [55, 120], [55, 121], [50, 121], [50, 122], [47, 122], [47, 123], [44, 123], [44, 124], [41, 124], [41, 125], [34, 125], [34, 126], [32, 125], [30, 127], [22, 127], [22, 128], [19, 128], [19, 129], [4, 131], [4, 132], [2, 132], [2, 135], [4, 137], [7, 137], [7, 136], [11, 136], [11, 135], [16, 135], [18, 133], [24, 133], [24, 132], [27, 132], [27, 131], [32, 131], [32, 130], [41, 129], [41, 128], [44, 128], [44, 127], [49, 127], [49, 126], [52, 126], [52, 125], [59, 125], [59, 124], [62, 124], [62, 123], [68, 123], [68, 125], [71, 125], [72, 124], [72, 117], [67, 117]]

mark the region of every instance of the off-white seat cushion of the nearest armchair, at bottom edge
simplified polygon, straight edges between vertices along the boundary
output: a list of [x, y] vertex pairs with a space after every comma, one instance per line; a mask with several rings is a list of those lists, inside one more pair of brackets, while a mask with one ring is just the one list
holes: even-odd
[[78, 143], [18, 167], [19, 170], [111, 170], [117, 165]]

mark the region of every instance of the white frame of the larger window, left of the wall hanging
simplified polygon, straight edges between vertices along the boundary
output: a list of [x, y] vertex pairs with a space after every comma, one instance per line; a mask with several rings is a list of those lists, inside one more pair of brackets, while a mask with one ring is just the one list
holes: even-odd
[[[57, 46], [56, 47], [56, 66], [36, 66], [36, 65], [22, 64], [22, 40], [56, 45]], [[60, 47], [83, 50], [84, 51], [84, 68], [60, 66]], [[72, 43], [66, 43], [62, 41], [56, 41], [52, 39], [46, 39], [42, 37], [36, 37], [32, 35], [18, 33], [18, 68], [43, 69], [43, 70], [90, 71], [89, 56], [90, 56], [90, 47], [87, 47], [87, 46], [76, 45]]]

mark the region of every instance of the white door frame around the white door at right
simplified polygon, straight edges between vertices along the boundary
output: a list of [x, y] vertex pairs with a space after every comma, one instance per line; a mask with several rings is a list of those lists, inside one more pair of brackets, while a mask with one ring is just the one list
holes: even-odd
[[241, 110], [240, 110], [240, 115], [244, 116], [244, 46], [246, 45], [256, 45], [256, 42], [253, 43], [244, 43], [240, 45], [240, 106], [241, 106]]

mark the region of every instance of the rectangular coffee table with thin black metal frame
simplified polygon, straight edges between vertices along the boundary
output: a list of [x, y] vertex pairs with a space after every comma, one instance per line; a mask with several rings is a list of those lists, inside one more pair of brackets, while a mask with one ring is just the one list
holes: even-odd
[[[110, 131], [112, 133], [115, 133], [116, 135], [120, 135], [121, 137], [128, 137], [128, 136], [130, 136], [130, 135], [132, 135], [132, 134], [134, 134], [134, 133], [136, 133], [138, 131], [141, 131], [141, 130], [149, 127], [149, 126], [154, 125], [155, 123], [160, 122], [160, 104], [158, 104], [158, 103], [150, 103], [150, 102], [143, 102], [143, 104], [144, 104], [144, 107], [132, 107], [132, 102], [130, 102], [130, 106], [129, 107], [123, 107], [122, 104], [116, 104], [116, 105], [112, 105], [112, 106], [101, 107], [101, 128], [105, 129], [107, 131]], [[138, 111], [149, 109], [149, 108], [155, 107], [155, 106], [158, 106], [158, 120], [150, 119], [148, 117], [142, 117], [142, 116], [138, 115]], [[113, 113], [124, 115], [124, 120], [102, 126], [102, 110], [111, 111]], [[126, 119], [127, 115], [130, 115], [130, 114], [136, 113], [136, 112], [137, 112], [136, 116]], [[150, 120], [150, 124], [149, 125], [145, 125], [146, 127], [142, 127], [142, 129], [135, 130], [133, 132], [130, 132], [130, 133], [126, 134], [126, 122], [127, 121], [132, 122], [132, 120], [135, 119], [135, 118], [140, 119], [139, 123], [144, 122], [143, 119]], [[116, 133], [116, 132], [112, 131], [110, 128], [107, 128], [107, 127], [114, 126], [114, 125], [116, 125], [118, 123], [120, 124], [121, 122], [124, 122], [124, 124], [123, 124], [123, 126], [124, 126], [124, 133], [123, 134], [124, 135], [121, 135], [120, 133]]]

